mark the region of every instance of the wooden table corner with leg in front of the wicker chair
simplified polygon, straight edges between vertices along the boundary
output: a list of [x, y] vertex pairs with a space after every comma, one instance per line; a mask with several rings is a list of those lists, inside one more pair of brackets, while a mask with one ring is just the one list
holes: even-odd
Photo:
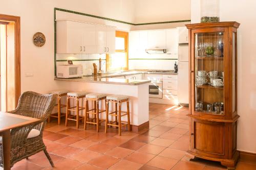
[[[10, 130], [39, 122], [40, 119], [0, 112], [0, 136], [3, 136], [3, 162], [4, 170], [11, 169], [11, 134]], [[1, 169], [1, 167], [0, 167]]]

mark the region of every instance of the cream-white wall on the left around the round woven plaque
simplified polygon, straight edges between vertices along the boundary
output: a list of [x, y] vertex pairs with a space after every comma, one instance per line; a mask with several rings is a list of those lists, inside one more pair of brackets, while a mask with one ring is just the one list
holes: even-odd
[[[21, 19], [21, 81], [22, 92], [27, 90], [46, 93], [60, 88], [54, 81], [54, 7], [89, 13], [128, 22], [134, 21], [133, 1], [126, 0], [8, 0], [1, 1], [0, 13], [20, 16]], [[59, 14], [61, 15], [61, 14]], [[68, 14], [67, 14], [68, 15]], [[87, 18], [88, 19], [88, 18]], [[98, 22], [95, 19], [92, 22]], [[110, 22], [108, 22], [110, 23]], [[123, 27], [117, 25], [118, 27]], [[128, 25], [125, 25], [128, 26]], [[130, 30], [127, 27], [123, 29]], [[42, 32], [46, 43], [36, 47], [33, 34]], [[26, 77], [31, 72], [33, 77]]]

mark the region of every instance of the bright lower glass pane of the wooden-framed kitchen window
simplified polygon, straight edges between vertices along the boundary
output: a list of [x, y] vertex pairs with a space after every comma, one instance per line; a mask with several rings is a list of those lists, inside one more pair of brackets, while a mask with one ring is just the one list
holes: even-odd
[[126, 67], [126, 53], [115, 53], [109, 56], [110, 70]]

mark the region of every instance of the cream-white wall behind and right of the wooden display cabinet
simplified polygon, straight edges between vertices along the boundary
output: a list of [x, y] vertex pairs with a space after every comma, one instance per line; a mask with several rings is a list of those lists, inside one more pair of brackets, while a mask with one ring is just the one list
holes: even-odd
[[[256, 1], [220, 1], [220, 21], [237, 21], [238, 150], [256, 153]], [[200, 0], [191, 0], [191, 23], [200, 21]]]

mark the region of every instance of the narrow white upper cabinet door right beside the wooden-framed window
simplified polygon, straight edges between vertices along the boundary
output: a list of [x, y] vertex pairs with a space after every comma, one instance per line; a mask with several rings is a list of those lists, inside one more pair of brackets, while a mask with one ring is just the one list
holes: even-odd
[[106, 27], [106, 53], [113, 54], [116, 50], [116, 29]]

